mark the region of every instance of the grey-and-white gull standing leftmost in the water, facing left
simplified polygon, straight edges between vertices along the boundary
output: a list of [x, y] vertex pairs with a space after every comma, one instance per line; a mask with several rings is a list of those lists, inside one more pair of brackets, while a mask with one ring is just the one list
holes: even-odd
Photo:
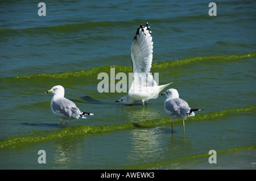
[[65, 90], [63, 86], [54, 86], [46, 93], [52, 92], [53, 97], [51, 100], [52, 112], [60, 118], [60, 128], [62, 127], [62, 121], [67, 120], [66, 127], [68, 127], [68, 120], [84, 118], [85, 115], [94, 115], [93, 113], [80, 111], [76, 107], [76, 104], [71, 100], [64, 98]]

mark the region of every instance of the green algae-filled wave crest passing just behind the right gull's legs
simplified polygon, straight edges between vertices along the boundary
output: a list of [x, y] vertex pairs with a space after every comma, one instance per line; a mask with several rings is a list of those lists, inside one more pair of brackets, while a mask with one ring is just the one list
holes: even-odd
[[[234, 115], [236, 113], [241, 112], [254, 112], [256, 111], [256, 106], [246, 106], [246, 107], [238, 107], [232, 110], [224, 110], [224, 111], [216, 111], [216, 112], [208, 112], [208, 113], [200, 113], [195, 117], [188, 117], [187, 120], [193, 121], [212, 121], [217, 117], [222, 117], [224, 115]], [[113, 131], [122, 131], [129, 130], [134, 128], [153, 128], [159, 125], [167, 125], [171, 123], [171, 119], [169, 117], [164, 117], [163, 119], [155, 119], [155, 120], [146, 120], [136, 123], [120, 123], [120, 124], [111, 124], [111, 125], [93, 125], [93, 126], [77, 126], [77, 127], [68, 127], [62, 129], [56, 129], [54, 131], [40, 132], [40, 131], [32, 131], [31, 133], [24, 134], [22, 136], [14, 136], [11, 138], [3, 139], [0, 141], [0, 148], [19, 148], [20, 146], [24, 146], [24, 144], [31, 144], [40, 141], [49, 141], [64, 137], [72, 137], [72, 136], [86, 136], [90, 134], [102, 134], [106, 132]], [[58, 125], [59, 126], [59, 125]]]

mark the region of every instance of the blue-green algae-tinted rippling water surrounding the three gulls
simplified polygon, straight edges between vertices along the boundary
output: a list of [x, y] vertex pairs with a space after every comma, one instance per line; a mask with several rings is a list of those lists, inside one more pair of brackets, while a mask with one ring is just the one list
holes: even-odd
[[[216, 1], [217, 16], [210, 1], [45, 3], [39, 16], [36, 2], [0, 2], [1, 169], [255, 169], [253, 1]], [[172, 134], [164, 96], [124, 106], [126, 92], [98, 92], [98, 74], [132, 72], [131, 41], [147, 22], [152, 74], [204, 109], [185, 134], [180, 120]], [[55, 85], [95, 115], [60, 129], [45, 94]]]

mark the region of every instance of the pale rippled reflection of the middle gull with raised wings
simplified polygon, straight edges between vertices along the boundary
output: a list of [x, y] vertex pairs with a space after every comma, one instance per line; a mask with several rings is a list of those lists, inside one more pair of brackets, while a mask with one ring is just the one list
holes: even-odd
[[[126, 106], [127, 107], [127, 106]], [[160, 145], [162, 141], [159, 140], [160, 135], [157, 133], [157, 128], [142, 127], [139, 123], [144, 120], [158, 119], [160, 114], [156, 113], [149, 107], [134, 107], [129, 106], [129, 110], [125, 110], [128, 120], [135, 122], [133, 125], [139, 129], [133, 129], [130, 131], [131, 144], [133, 150], [130, 151], [128, 159], [131, 162], [144, 162], [148, 160], [154, 160], [156, 157], [160, 157], [163, 154], [163, 146]]]

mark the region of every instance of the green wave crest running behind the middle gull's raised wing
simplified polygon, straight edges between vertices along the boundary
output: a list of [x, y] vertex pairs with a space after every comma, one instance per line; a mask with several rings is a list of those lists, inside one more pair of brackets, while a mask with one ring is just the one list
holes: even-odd
[[[175, 66], [183, 66], [188, 64], [193, 64], [196, 62], [206, 62], [206, 61], [218, 61], [218, 62], [234, 62], [234, 61], [243, 61], [247, 58], [256, 58], [256, 52], [244, 53], [244, 54], [236, 54], [236, 55], [217, 55], [217, 56], [199, 56], [199, 57], [188, 57], [182, 58], [180, 60], [170, 60], [170, 61], [160, 61], [152, 63], [152, 71], [166, 68], [172, 68]], [[131, 65], [119, 66], [119, 65], [109, 65], [109, 66], [99, 66], [91, 69], [82, 69], [78, 71], [64, 71], [59, 73], [42, 73], [42, 74], [32, 74], [32, 75], [24, 75], [20, 77], [8, 77], [8, 78], [0, 78], [0, 82], [11, 82], [15, 81], [17, 78], [19, 81], [22, 79], [40, 79], [40, 78], [55, 78], [55, 79], [65, 79], [70, 77], [90, 77], [96, 76], [98, 73], [110, 71], [110, 68], [115, 68], [115, 72], [124, 72], [129, 73], [133, 72]]]

